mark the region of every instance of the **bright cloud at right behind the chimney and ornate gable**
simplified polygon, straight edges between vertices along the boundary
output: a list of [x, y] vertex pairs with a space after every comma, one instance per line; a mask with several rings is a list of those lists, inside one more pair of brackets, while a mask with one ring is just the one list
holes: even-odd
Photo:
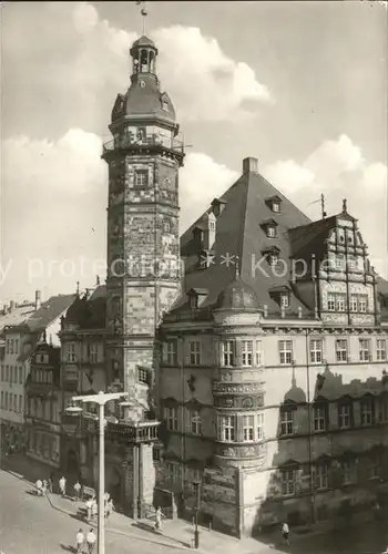
[[368, 164], [348, 136], [321, 143], [302, 164], [278, 161], [264, 168], [264, 175], [313, 219], [320, 217], [320, 205], [310, 202], [325, 196], [329, 215], [341, 211], [358, 219], [364, 240], [376, 269], [388, 277], [387, 252], [387, 166]]

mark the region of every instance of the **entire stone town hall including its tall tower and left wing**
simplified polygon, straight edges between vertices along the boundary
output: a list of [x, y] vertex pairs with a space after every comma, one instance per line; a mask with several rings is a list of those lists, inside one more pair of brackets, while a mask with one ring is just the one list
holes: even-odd
[[[201, 481], [202, 516], [238, 536], [366, 507], [388, 478], [388, 291], [356, 219], [344, 202], [310, 222], [246, 158], [181, 238], [181, 283], [183, 145], [157, 49], [142, 37], [131, 55], [102, 155], [106, 287], [61, 331], [64, 404], [102, 387], [130, 396], [106, 409], [108, 490], [134, 516], [174, 496], [188, 515]], [[63, 416], [62, 454], [95, 482], [93, 421]]]

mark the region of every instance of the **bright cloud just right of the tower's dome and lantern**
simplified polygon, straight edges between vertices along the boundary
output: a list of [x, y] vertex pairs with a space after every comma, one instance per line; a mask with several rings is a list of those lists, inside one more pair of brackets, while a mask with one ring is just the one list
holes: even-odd
[[161, 51], [161, 76], [184, 119], [236, 120], [252, 115], [244, 107], [247, 101], [256, 106], [272, 101], [252, 68], [224, 54], [218, 42], [201, 29], [173, 25], [154, 35]]

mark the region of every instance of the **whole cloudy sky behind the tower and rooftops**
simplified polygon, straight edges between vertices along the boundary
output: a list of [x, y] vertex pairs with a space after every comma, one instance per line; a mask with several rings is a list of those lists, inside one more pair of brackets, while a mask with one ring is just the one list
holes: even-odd
[[[181, 232], [242, 172], [244, 157], [313, 219], [358, 218], [388, 276], [387, 4], [147, 2], [162, 89], [187, 144]], [[102, 143], [135, 2], [3, 2], [0, 300], [43, 299], [105, 278]]]

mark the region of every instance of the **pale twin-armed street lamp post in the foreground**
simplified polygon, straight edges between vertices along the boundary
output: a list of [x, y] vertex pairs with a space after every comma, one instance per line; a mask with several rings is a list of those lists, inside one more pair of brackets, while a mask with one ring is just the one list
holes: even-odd
[[[98, 554], [105, 554], [105, 529], [104, 529], [104, 493], [105, 493], [105, 444], [104, 444], [104, 406], [111, 400], [127, 397], [126, 392], [105, 393], [102, 390], [98, 394], [85, 394], [72, 397], [73, 402], [94, 402], [99, 404], [99, 499], [98, 499]], [[65, 410], [69, 413], [80, 413], [82, 408], [72, 406]]]

